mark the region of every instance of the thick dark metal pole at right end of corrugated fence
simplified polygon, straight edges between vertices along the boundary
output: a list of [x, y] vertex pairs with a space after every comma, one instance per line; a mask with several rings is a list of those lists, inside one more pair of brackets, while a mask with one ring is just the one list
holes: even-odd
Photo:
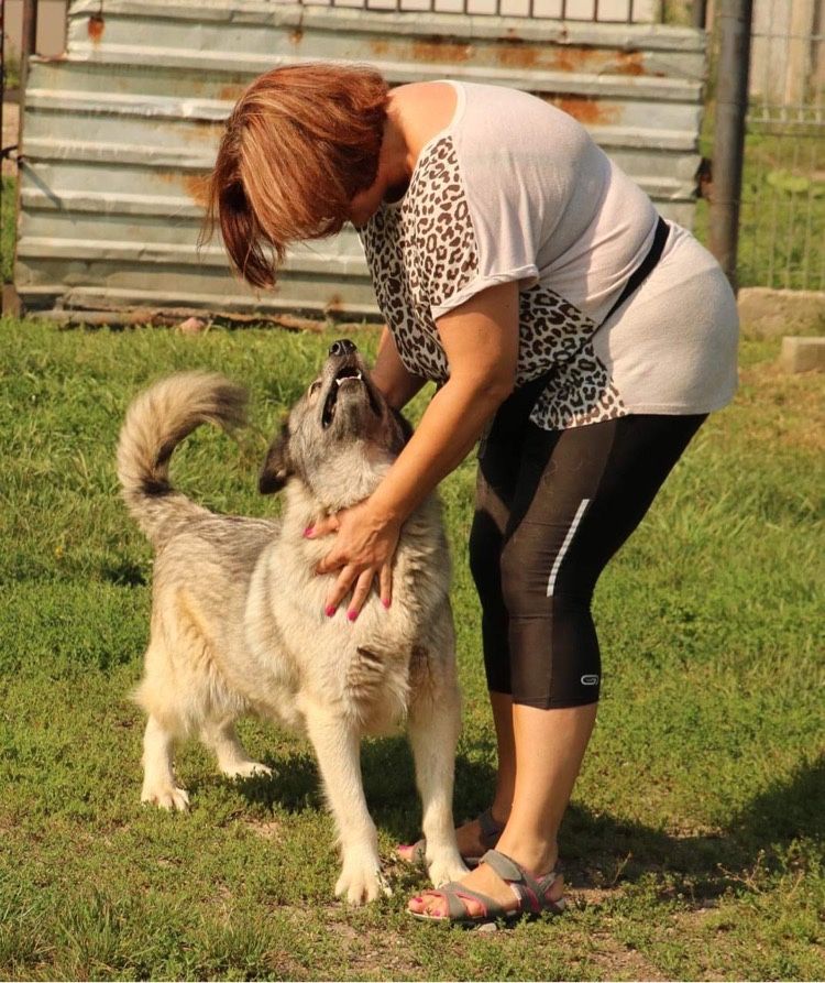
[[737, 288], [736, 250], [739, 236], [745, 117], [748, 111], [752, 0], [719, 4], [719, 61], [716, 69], [716, 123], [713, 140], [711, 252]]

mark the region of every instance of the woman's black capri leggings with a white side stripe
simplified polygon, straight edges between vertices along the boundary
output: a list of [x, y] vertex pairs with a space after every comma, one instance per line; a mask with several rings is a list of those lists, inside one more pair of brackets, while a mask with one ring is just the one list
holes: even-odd
[[493, 692], [541, 709], [598, 700], [596, 581], [704, 419], [493, 427], [480, 451], [470, 536]]

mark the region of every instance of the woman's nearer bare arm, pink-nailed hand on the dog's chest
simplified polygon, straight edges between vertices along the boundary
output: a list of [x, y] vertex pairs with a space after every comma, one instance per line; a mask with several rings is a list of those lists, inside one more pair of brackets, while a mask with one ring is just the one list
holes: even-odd
[[380, 577], [389, 600], [389, 565], [402, 524], [470, 452], [487, 420], [512, 392], [518, 359], [518, 284], [491, 287], [438, 320], [450, 379], [436, 393], [418, 428], [375, 492], [320, 523], [337, 528], [336, 543], [318, 567], [341, 570], [327, 602], [334, 610], [355, 585], [349, 616], [361, 610]]

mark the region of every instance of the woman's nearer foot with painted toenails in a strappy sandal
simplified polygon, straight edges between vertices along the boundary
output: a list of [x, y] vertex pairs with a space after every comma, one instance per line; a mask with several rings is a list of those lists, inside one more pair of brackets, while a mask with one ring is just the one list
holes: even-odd
[[[498, 851], [493, 852], [498, 853]], [[505, 860], [516, 861], [516, 858], [510, 859], [505, 855]], [[553, 863], [544, 869], [544, 873], [534, 873], [528, 867], [525, 867], [524, 872], [526, 872], [534, 882], [541, 882], [549, 877], [549, 872], [553, 870], [554, 863], [556, 858], [553, 858]], [[522, 866], [521, 864], [518, 864], [517, 861], [516, 865], [519, 867]], [[460, 889], [461, 887], [469, 888], [469, 892], [484, 895], [486, 898], [496, 903], [501, 909], [497, 911], [496, 917], [506, 917], [507, 914], [515, 915], [516, 913], [536, 911], [546, 908], [550, 910], [559, 910], [563, 907], [564, 880], [561, 875], [549, 878], [543, 896], [537, 899], [535, 907], [532, 906], [532, 897], [530, 897], [529, 894], [527, 896], [530, 897], [530, 903], [526, 905], [524, 888], [520, 888], [520, 889], [518, 889], [515, 885], [508, 883], [515, 880], [515, 877], [508, 877], [508, 880], [505, 881], [503, 876], [493, 870], [491, 863], [482, 862], [474, 871], [470, 871], [469, 874], [463, 876], [461, 881], [453, 882], [451, 885], [447, 886], [446, 891], [460, 899], [461, 905], [466, 913], [465, 919], [455, 919], [454, 915], [453, 918], [459, 921], [472, 921], [474, 919], [486, 920], [488, 917], [486, 910], [487, 906], [470, 895], [462, 894]], [[439, 891], [425, 891], [419, 896], [411, 898], [407, 905], [407, 910], [413, 915], [424, 915], [431, 918], [450, 917], [448, 899], [444, 897], [444, 894]]]

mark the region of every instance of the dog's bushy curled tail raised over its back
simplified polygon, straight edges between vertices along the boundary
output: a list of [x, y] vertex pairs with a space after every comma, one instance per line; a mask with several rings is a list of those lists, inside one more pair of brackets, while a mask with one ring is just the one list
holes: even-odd
[[162, 531], [169, 522], [208, 514], [169, 484], [177, 445], [205, 423], [241, 426], [245, 409], [245, 390], [217, 372], [170, 375], [129, 407], [118, 443], [118, 478], [129, 511], [152, 543], [166, 538]]

